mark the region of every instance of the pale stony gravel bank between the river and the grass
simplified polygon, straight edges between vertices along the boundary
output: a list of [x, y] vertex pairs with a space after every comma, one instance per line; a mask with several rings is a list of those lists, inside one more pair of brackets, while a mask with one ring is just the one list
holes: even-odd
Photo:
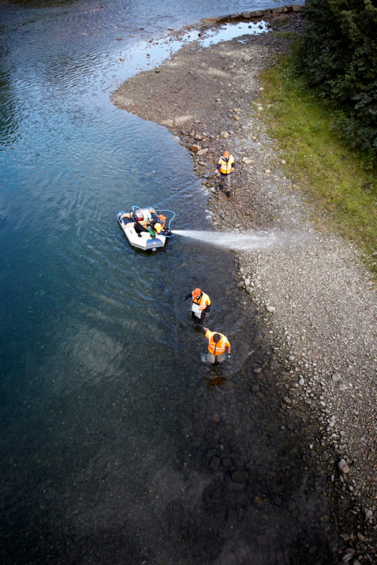
[[[296, 163], [300, 175], [288, 176], [291, 155], [271, 138], [274, 102], [259, 78], [289, 53], [292, 35], [302, 27], [300, 6], [205, 20], [201, 31], [262, 17], [268, 33], [207, 49], [184, 45], [161, 66], [124, 82], [112, 99], [180, 137], [203, 179], [216, 229], [275, 234], [276, 246], [235, 253], [239, 302], [245, 310], [257, 308], [285, 367], [276, 383], [281, 407], [304, 407], [317, 420], [318, 436], [308, 449], [334, 493], [331, 521], [339, 562], [374, 562], [375, 283], [363, 251], [339, 234], [322, 203], [302, 191], [301, 179], [310, 185], [305, 166]], [[214, 176], [205, 178], [225, 149], [236, 159], [231, 198], [217, 190]]]

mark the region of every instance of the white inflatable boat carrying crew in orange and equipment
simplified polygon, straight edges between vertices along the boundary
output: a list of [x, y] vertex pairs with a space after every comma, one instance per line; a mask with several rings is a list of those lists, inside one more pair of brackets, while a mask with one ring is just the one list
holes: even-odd
[[121, 210], [116, 215], [125, 237], [133, 247], [145, 251], [161, 249], [167, 238], [171, 237], [170, 220], [166, 224], [166, 217], [162, 212], [170, 210], [155, 211], [154, 208], [139, 208], [132, 206], [129, 212]]

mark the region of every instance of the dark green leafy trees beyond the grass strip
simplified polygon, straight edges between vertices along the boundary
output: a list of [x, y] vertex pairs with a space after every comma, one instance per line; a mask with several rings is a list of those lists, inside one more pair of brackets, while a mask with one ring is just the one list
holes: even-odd
[[354, 147], [377, 156], [377, 0], [306, 0], [301, 72], [341, 110]]

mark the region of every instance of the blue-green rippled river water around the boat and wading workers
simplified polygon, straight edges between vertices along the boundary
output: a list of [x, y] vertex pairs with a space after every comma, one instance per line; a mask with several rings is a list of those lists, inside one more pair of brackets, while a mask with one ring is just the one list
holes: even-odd
[[[281, 402], [232, 251], [177, 236], [145, 254], [116, 224], [192, 186], [172, 227], [209, 227], [187, 151], [110, 95], [179, 47], [151, 46], [167, 28], [264, 7], [0, 2], [3, 564], [333, 559], [314, 418]], [[202, 363], [196, 286], [232, 343], [222, 367]]]

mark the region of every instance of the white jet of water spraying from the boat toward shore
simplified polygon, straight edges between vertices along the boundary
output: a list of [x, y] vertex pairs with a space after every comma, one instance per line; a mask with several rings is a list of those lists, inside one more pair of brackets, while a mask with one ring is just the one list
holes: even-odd
[[225, 233], [225, 232], [203, 232], [192, 229], [174, 229], [172, 233], [199, 240], [211, 245], [226, 247], [235, 251], [247, 251], [251, 249], [263, 249], [279, 244], [276, 234], [258, 234], [254, 232]]

